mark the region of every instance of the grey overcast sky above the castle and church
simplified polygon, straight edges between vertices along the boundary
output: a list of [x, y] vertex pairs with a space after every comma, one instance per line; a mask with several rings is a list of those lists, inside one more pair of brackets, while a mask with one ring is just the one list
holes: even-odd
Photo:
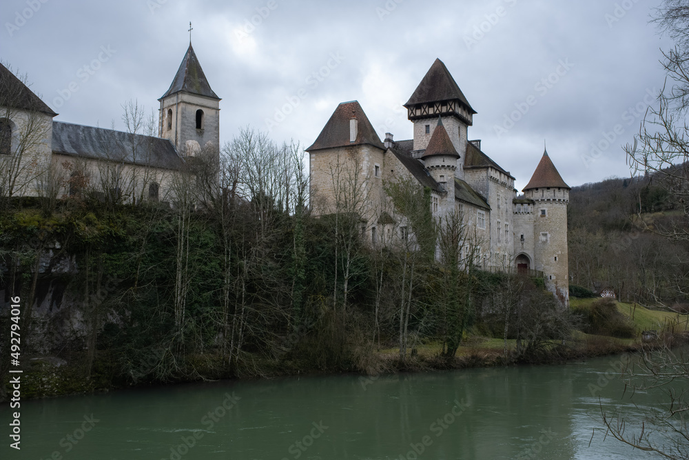
[[411, 139], [402, 104], [440, 58], [478, 112], [469, 139], [482, 139], [518, 189], [544, 139], [577, 186], [629, 174], [621, 146], [638, 132], [647, 94], [663, 85], [660, 49], [671, 45], [649, 23], [658, 5], [3, 0], [0, 59], [28, 75], [56, 119], [123, 129], [121, 105], [130, 99], [157, 117], [192, 21], [194, 50], [223, 99], [220, 143], [252, 126], [305, 148], [338, 103], [354, 99], [381, 139]]

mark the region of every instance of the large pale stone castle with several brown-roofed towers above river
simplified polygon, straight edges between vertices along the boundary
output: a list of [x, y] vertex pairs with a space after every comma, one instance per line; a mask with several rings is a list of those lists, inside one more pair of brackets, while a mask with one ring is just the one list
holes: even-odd
[[[468, 140], [473, 110], [449, 70], [436, 59], [404, 104], [414, 138], [384, 141], [357, 101], [340, 103], [307, 148], [311, 207], [317, 215], [353, 210], [373, 245], [409, 239], [409, 222], [395, 213], [386, 184], [406, 179], [430, 194], [437, 221], [459, 215], [471, 258], [486, 270], [542, 272], [546, 287], [568, 306], [567, 205], [570, 187], [548, 153], [517, 197], [515, 178]], [[345, 173], [345, 168], [349, 172]], [[349, 183], [350, 192], [343, 188]], [[344, 205], [344, 206], [343, 206]], [[460, 259], [462, 255], [460, 252]], [[465, 250], [464, 257], [469, 257]], [[540, 274], [540, 273], [539, 273]]]

